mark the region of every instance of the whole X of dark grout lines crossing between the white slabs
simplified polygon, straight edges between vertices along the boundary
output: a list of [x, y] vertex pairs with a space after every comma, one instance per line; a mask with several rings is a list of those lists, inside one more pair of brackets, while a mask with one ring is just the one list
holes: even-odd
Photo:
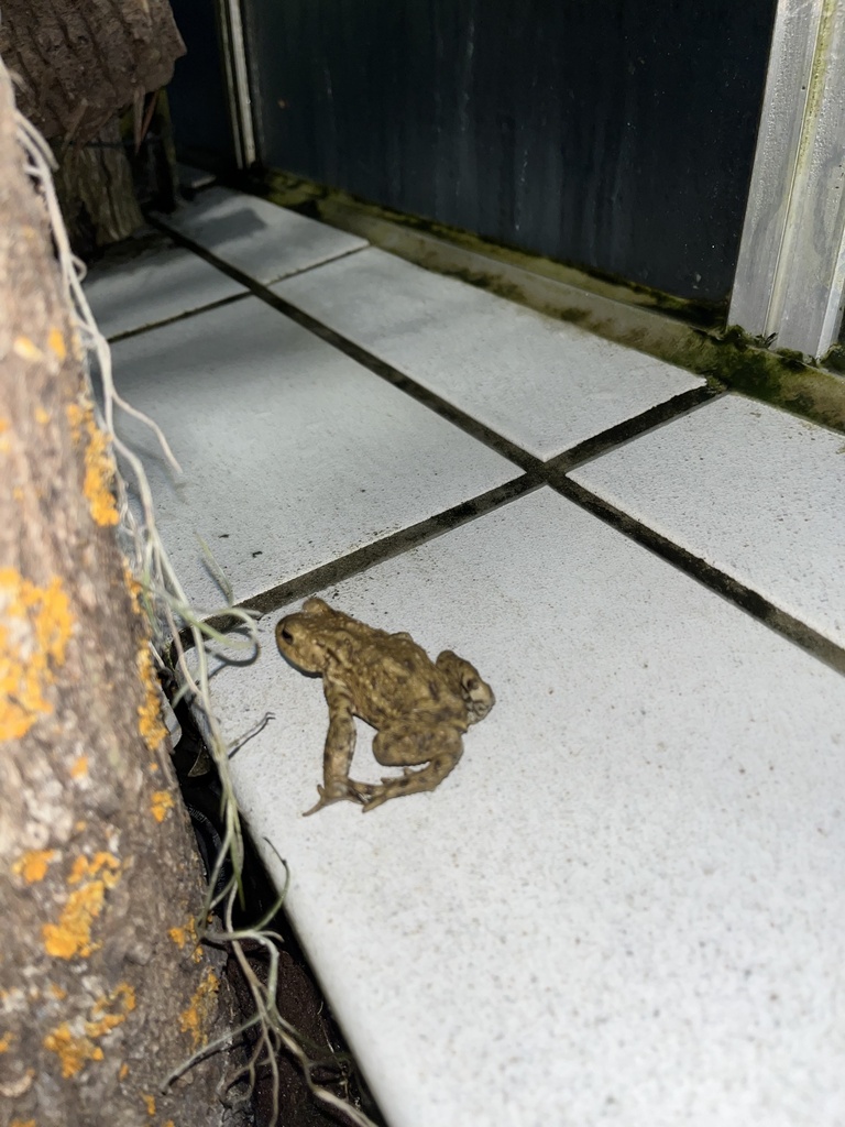
[[[154, 219], [150, 221], [154, 225], [164, 227], [164, 224], [159, 223]], [[433, 536], [456, 527], [477, 516], [482, 516], [499, 505], [506, 504], [515, 497], [530, 492], [542, 485], [549, 485], [580, 508], [586, 509], [601, 521], [610, 524], [617, 532], [637, 541], [637, 543], [649, 551], [655, 552], [655, 554], [666, 560], [673, 567], [678, 568], [678, 570], [684, 571], [691, 578], [696, 579], [709, 589], [721, 595], [738, 609], [763, 622], [776, 633], [797, 644], [838, 673], [845, 674], [845, 649], [786, 611], [782, 611], [765, 596], [759, 595], [738, 579], [731, 578], [711, 564], [705, 562], [701, 557], [693, 554], [685, 548], [681, 548], [666, 536], [602, 500], [595, 494], [592, 494], [566, 476], [567, 472], [575, 469], [581, 462], [596, 458], [611, 447], [628, 442], [655, 426], [668, 423], [679, 415], [686, 414], [696, 407], [703, 406], [711, 399], [724, 394], [720, 388], [713, 388], [708, 384], [703, 388], [694, 388], [691, 391], [683, 392], [667, 400], [665, 403], [659, 403], [657, 407], [649, 408], [634, 418], [619, 424], [619, 426], [604, 431], [594, 438], [588, 438], [586, 442], [566, 451], [563, 454], [550, 459], [548, 462], [542, 462], [539, 458], [522, 450], [522, 447], [509, 440], [504, 438], [490, 427], [479, 423], [465, 411], [453, 407], [439, 396], [422, 388], [416, 380], [404, 375], [398, 369], [374, 356], [341, 334], [330, 329], [327, 325], [317, 320], [317, 318], [292, 305], [267, 286], [242, 274], [235, 267], [223, 263], [204, 247], [194, 243], [178, 231], [171, 231], [169, 228], [166, 228], [166, 230], [169, 234], [174, 236], [175, 241], [188, 247], [188, 249], [193, 250], [201, 258], [205, 258], [206, 261], [222, 269], [230, 277], [246, 285], [257, 298], [526, 471], [523, 477], [505, 486], [500, 486], [498, 489], [493, 489], [472, 500], [464, 502], [454, 508], [447, 509], [445, 513], [412, 525], [410, 529], [393, 533], [373, 544], [367, 544], [339, 559], [332, 560], [330, 564], [296, 576], [287, 583], [239, 603], [238, 606], [247, 610], [256, 610], [260, 614], [268, 613], [287, 602], [293, 602], [310, 594], [312, 591], [329, 586], [332, 583], [339, 583], [343, 579], [348, 579], [353, 575], [357, 575], [373, 565], [382, 562], [382, 560], [398, 556], [402, 551], [415, 548]], [[210, 619], [208, 622], [215, 629], [225, 632], [226, 629], [231, 629], [235, 624], [237, 620], [233, 620], [230, 615], [216, 615]]]

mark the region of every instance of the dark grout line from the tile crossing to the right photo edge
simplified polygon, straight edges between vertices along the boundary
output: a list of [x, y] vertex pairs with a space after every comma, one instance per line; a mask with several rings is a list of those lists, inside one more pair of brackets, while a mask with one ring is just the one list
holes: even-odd
[[693, 554], [686, 548], [681, 548], [667, 536], [649, 529], [648, 525], [641, 524], [628, 513], [572, 481], [571, 478], [562, 473], [550, 472], [546, 482], [557, 492], [598, 517], [599, 521], [604, 521], [617, 532], [637, 541], [638, 544], [696, 579], [717, 595], [721, 595], [735, 606], [750, 614], [751, 618], [757, 619], [758, 622], [784, 636], [820, 662], [831, 666], [837, 673], [845, 674], [845, 649], [788, 611], [775, 606], [764, 595], [747, 587], [739, 579], [732, 578], [712, 564], [708, 564], [706, 560]]

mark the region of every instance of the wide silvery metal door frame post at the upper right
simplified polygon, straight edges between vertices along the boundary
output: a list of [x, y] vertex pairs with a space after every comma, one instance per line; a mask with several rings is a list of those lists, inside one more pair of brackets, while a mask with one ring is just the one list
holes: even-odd
[[845, 294], [845, 0], [779, 0], [729, 323], [820, 358]]

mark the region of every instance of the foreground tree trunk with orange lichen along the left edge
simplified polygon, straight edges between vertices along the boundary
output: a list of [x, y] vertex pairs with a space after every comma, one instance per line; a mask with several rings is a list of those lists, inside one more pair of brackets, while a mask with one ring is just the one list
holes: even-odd
[[[5, 6], [3, 18], [7, 17]], [[220, 1122], [219, 967], [107, 442], [0, 65], [0, 1125]]]

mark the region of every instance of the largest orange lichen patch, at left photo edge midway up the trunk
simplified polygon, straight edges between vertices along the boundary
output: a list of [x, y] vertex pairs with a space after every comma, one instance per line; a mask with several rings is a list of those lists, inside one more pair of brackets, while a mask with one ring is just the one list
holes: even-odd
[[73, 625], [57, 576], [37, 587], [15, 568], [0, 568], [0, 740], [19, 739], [53, 711], [44, 694], [64, 664]]

